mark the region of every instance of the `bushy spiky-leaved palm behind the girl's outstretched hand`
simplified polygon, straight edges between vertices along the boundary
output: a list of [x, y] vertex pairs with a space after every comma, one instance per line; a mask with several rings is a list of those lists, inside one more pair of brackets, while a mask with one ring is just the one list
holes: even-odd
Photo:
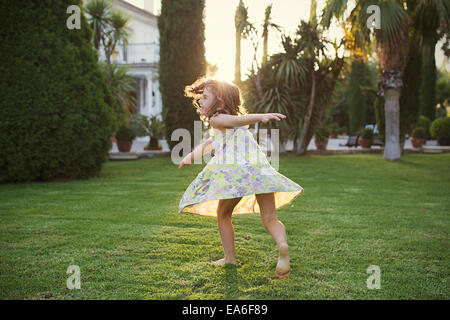
[[[302, 21], [297, 35], [296, 39], [282, 35], [284, 52], [270, 56], [258, 74], [250, 74], [244, 83], [244, 94], [252, 112], [289, 115], [286, 121], [267, 126], [280, 129], [281, 143], [292, 139], [294, 150], [302, 154], [330, 105], [343, 60], [337, 55], [330, 59], [330, 55], [325, 54], [325, 40], [311, 24]], [[335, 45], [336, 52], [341, 45]], [[310, 51], [314, 52], [315, 59]], [[320, 54], [322, 59], [319, 59]], [[262, 98], [254, 81], [257, 75], [261, 76]]]

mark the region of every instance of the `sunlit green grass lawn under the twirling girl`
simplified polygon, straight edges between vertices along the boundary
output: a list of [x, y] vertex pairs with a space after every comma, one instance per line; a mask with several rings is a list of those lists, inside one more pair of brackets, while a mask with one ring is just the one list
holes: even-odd
[[[450, 298], [450, 154], [281, 156], [305, 189], [278, 211], [286, 279], [259, 215], [233, 217], [238, 265], [210, 267], [223, 256], [216, 219], [178, 213], [202, 168], [152, 158], [86, 181], [0, 185], [0, 299]], [[69, 265], [80, 290], [66, 286]]]

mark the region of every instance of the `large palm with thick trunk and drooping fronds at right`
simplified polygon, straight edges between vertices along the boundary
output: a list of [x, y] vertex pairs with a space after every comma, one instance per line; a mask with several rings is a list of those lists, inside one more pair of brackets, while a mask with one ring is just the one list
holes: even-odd
[[[348, 0], [329, 0], [323, 10], [322, 24], [328, 28], [331, 18], [341, 18], [347, 8]], [[377, 44], [377, 56], [382, 75], [381, 90], [385, 98], [386, 143], [383, 158], [400, 159], [400, 112], [399, 101], [402, 89], [402, 73], [408, 54], [408, 31], [410, 19], [403, 1], [360, 0], [356, 1], [348, 21], [355, 37], [362, 42], [368, 41], [371, 29], [367, 27], [369, 5], [377, 5], [381, 14], [380, 29], [374, 30]], [[367, 40], [366, 40], [367, 39]]]

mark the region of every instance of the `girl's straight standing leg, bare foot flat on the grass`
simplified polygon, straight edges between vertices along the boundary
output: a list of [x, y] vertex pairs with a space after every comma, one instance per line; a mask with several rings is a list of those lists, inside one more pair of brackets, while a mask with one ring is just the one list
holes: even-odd
[[213, 266], [224, 263], [236, 264], [236, 251], [234, 248], [234, 229], [231, 223], [231, 214], [234, 207], [242, 197], [233, 199], [221, 199], [217, 207], [217, 222], [219, 225], [220, 238], [222, 240], [225, 257], [217, 261], [211, 261]]

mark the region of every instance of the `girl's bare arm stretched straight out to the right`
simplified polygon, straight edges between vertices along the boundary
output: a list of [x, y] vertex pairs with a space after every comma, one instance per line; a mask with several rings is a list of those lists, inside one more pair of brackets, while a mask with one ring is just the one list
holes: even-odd
[[209, 123], [214, 128], [232, 128], [254, 124], [257, 122], [268, 122], [269, 120], [278, 120], [286, 118], [281, 113], [251, 113], [243, 116], [234, 116], [230, 114], [218, 114], [209, 119]]

